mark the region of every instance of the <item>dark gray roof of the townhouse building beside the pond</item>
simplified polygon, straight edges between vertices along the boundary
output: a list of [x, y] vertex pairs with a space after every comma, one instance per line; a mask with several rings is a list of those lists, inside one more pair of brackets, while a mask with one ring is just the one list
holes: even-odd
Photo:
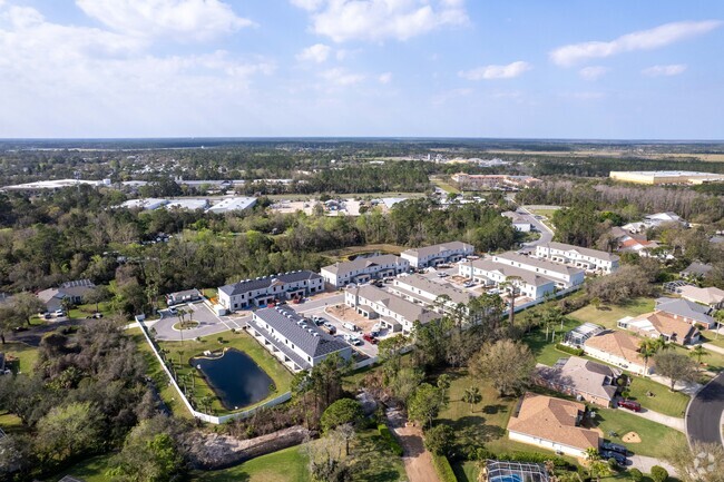
[[288, 307], [276, 306], [257, 309], [254, 312], [254, 316], [268, 323], [280, 335], [299, 346], [312, 358], [349, 347], [346, 343], [327, 335], [314, 324], [306, 325], [304, 318]]

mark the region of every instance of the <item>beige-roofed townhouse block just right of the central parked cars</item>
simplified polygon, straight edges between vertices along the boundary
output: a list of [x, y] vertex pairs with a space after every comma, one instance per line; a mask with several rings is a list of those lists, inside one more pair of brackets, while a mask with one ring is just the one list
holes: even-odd
[[352, 285], [344, 292], [344, 303], [356, 313], [379, 319], [393, 332], [411, 333], [414, 322], [422, 324], [441, 315], [372, 285]]

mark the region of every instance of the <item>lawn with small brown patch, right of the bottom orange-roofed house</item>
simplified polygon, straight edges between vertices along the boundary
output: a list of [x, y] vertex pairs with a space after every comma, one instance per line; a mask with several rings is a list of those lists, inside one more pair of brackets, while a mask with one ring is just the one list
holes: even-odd
[[[597, 426], [603, 431], [603, 437], [626, 445], [628, 450], [638, 455], [662, 458], [662, 453], [667, 446], [666, 440], [669, 437], [679, 441], [686, 439], [686, 435], [674, 429], [626, 413], [623, 410], [596, 409], [596, 412]], [[610, 432], [615, 432], [616, 436], [610, 436]], [[642, 442], [624, 443], [620, 437], [628, 432], [636, 432]]]

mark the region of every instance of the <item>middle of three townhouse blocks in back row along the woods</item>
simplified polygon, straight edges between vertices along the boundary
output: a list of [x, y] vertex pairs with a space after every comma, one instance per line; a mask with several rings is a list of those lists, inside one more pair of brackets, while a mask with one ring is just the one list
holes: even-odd
[[410, 262], [395, 255], [358, 257], [351, 262], [337, 262], [324, 266], [320, 274], [334, 287], [366, 283], [373, 278], [397, 276], [410, 269]]

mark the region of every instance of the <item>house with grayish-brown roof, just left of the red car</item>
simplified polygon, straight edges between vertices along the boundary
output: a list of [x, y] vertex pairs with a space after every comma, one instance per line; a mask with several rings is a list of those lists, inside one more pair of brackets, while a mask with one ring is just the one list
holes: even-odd
[[622, 371], [590, 360], [570, 356], [552, 366], [538, 365], [537, 384], [600, 406], [612, 406]]

